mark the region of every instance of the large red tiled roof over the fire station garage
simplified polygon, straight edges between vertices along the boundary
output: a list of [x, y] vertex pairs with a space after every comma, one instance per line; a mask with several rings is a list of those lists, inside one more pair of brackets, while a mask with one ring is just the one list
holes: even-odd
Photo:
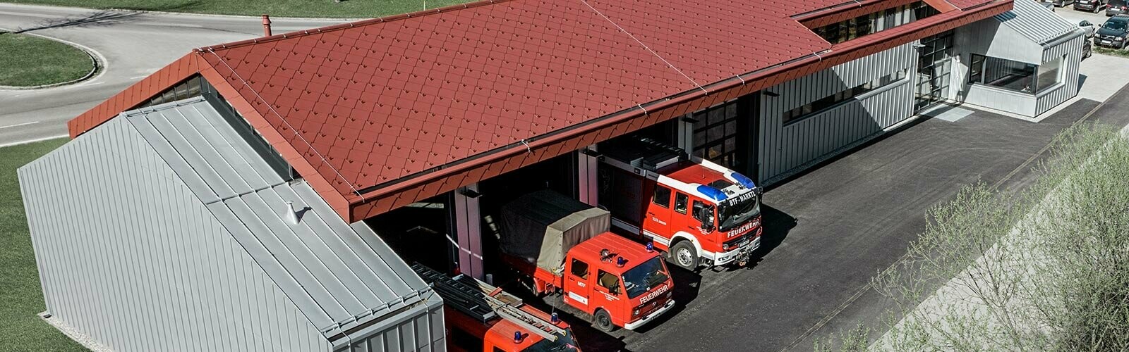
[[793, 16], [841, 0], [479, 1], [199, 49], [70, 131], [199, 72], [357, 221], [1012, 8], [969, 1], [834, 46]]

